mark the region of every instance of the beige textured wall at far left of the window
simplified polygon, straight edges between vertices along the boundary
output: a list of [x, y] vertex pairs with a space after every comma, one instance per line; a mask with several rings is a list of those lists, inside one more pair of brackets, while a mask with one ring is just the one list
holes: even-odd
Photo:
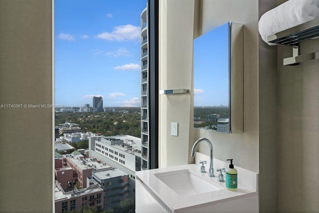
[[[0, 0], [0, 104], [52, 104], [51, 1]], [[53, 207], [52, 109], [0, 108], [0, 212]]]

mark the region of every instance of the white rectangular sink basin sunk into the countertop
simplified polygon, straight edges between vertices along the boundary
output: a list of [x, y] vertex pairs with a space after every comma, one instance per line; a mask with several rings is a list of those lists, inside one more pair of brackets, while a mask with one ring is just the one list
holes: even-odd
[[194, 175], [188, 169], [154, 174], [178, 195], [191, 196], [222, 190], [223, 188]]

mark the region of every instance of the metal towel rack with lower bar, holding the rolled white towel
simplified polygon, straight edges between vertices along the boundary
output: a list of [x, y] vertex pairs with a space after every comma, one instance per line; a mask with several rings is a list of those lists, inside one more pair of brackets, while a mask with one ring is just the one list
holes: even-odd
[[267, 42], [291, 45], [293, 56], [284, 58], [284, 65], [298, 65], [307, 60], [319, 59], [319, 51], [299, 55], [299, 42], [314, 38], [319, 38], [319, 18], [268, 35]]

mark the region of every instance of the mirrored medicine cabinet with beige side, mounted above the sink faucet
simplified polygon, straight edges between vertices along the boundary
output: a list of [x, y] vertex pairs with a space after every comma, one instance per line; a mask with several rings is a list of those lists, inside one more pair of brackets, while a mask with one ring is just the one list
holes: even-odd
[[194, 127], [243, 132], [243, 25], [225, 24], [194, 39]]

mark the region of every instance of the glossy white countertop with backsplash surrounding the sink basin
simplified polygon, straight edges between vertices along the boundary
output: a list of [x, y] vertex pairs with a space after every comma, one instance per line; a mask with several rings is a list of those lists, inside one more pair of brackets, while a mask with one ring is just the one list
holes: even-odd
[[[202, 156], [201, 156], [202, 157]], [[197, 158], [198, 159], [198, 158]], [[201, 158], [202, 159], [202, 158]], [[205, 159], [204, 159], [205, 160]], [[243, 196], [249, 196], [252, 194], [256, 194], [257, 192], [257, 175], [251, 171], [248, 171], [248, 176], [252, 178], [255, 177], [255, 181], [251, 181], [252, 178], [248, 177], [247, 181], [252, 183], [240, 183], [240, 180], [244, 180], [243, 178], [238, 179], [238, 189], [237, 191], [229, 191], [225, 187], [225, 182], [218, 182], [218, 172], [216, 172], [216, 168], [219, 165], [223, 166], [223, 163], [220, 164], [219, 160], [214, 159], [214, 174], [216, 177], [208, 177], [208, 173], [200, 173], [200, 166], [198, 164], [188, 164], [188, 165], [181, 165], [181, 166], [174, 166], [168, 168], [160, 168], [160, 169], [153, 169], [153, 170], [146, 170], [146, 171], [139, 171], [136, 172], [136, 177], [138, 180], [142, 181], [167, 207], [172, 210], [178, 210], [182, 208], [187, 208], [195, 205], [207, 204], [212, 202], [224, 202], [236, 198], [242, 198]], [[225, 162], [227, 164], [227, 162]], [[219, 165], [218, 165], [219, 164]], [[208, 171], [209, 162], [206, 165], [206, 171]], [[224, 167], [221, 167], [224, 168]], [[170, 189], [167, 185], [160, 181], [154, 174], [162, 173], [162, 172], [171, 172], [177, 170], [188, 169], [193, 171], [197, 176], [202, 177], [206, 181], [211, 181], [215, 185], [219, 185], [222, 187], [222, 190], [202, 193], [197, 195], [191, 196], [182, 196], [178, 195], [172, 189]], [[236, 168], [238, 169], [238, 168]], [[239, 175], [246, 176], [245, 169], [240, 168], [238, 172]], [[225, 179], [225, 174], [224, 174]]]

